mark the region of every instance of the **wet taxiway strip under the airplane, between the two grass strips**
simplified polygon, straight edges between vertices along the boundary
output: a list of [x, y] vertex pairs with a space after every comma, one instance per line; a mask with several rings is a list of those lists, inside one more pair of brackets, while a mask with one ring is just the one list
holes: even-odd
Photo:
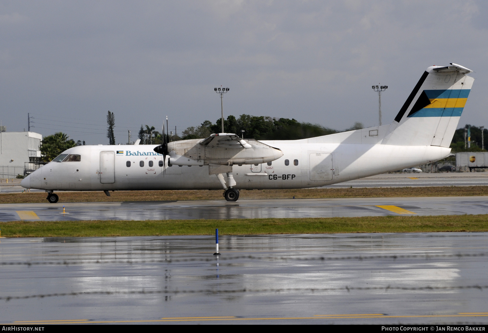
[[0, 221], [327, 218], [399, 214], [488, 214], [488, 197], [280, 199], [237, 202], [46, 202], [0, 205]]

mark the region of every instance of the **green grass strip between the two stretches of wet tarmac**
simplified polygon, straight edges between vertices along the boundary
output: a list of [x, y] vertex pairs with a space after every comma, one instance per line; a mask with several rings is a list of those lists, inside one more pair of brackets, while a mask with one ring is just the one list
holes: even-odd
[[359, 218], [3, 222], [5, 237], [101, 237], [488, 231], [488, 214]]

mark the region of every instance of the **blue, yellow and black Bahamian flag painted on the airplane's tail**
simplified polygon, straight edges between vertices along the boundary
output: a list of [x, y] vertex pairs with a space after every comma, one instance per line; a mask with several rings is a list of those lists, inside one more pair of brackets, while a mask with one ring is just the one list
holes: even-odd
[[470, 89], [424, 90], [407, 117], [459, 117]]

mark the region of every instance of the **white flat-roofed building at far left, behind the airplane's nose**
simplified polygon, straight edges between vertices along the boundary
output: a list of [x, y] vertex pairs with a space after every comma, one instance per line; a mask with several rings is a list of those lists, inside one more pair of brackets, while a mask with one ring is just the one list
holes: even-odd
[[39, 133], [0, 131], [0, 178], [23, 175], [24, 168], [37, 169], [33, 163], [41, 161], [41, 140]]

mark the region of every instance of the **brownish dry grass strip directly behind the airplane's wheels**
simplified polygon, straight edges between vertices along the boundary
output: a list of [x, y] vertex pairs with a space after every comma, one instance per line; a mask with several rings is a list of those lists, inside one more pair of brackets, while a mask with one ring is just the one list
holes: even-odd
[[[223, 190], [115, 191], [110, 197], [102, 191], [56, 192], [63, 202], [224, 200]], [[241, 190], [239, 200], [247, 199], [322, 199], [486, 196], [488, 186], [308, 188], [286, 190]], [[46, 193], [0, 194], [0, 203], [46, 203]]]

